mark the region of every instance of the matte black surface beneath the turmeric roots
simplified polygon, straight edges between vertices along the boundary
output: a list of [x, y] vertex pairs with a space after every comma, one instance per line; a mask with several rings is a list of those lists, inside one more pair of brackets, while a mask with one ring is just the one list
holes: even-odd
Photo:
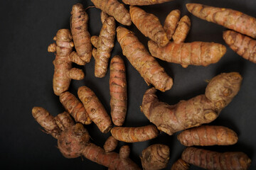
[[[54, 55], [47, 52], [47, 47], [53, 42], [53, 36], [60, 28], [70, 28], [70, 11], [73, 4], [82, 3], [85, 7], [92, 5], [91, 1], [0, 1], [1, 8], [1, 57], [0, 57], [0, 155], [1, 166], [6, 169], [107, 169], [90, 162], [85, 158], [66, 159], [56, 147], [57, 141], [43, 133], [41, 126], [36, 123], [31, 115], [33, 106], [46, 108], [51, 114], [57, 115], [64, 111], [58, 96], [53, 94], [53, 60]], [[154, 13], [164, 23], [167, 14], [176, 8], [181, 10], [181, 16], [191, 18], [191, 31], [186, 42], [196, 40], [206, 42], [219, 42], [225, 45], [222, 26], [208, 23], [188, 13], [186, 3], [197, 2], [210, 6], [233, 8], [250, 16], [256, 16], [256, 1], [247, 0], [212, 0], [212, 1], [183, 1], [176, 0], [165, 4], [142, 7], [149, 13]], [[127, 6], [128, 8], [128, 6]], [[87, 10], [90, 17], [89, 31], [91, 35], [100, 33], [100, 10], [90, 8]], [[139, 33], [134, 25], [129, 29], [139, 37], [144, 45], [147, 38]], [[239, 141], [236, 145], [228, 147], [205, 147], [219, 152], [241, 151], [251, 159], [250, 170], [256, 168], [256, 64], [244, 60], [227, 48], [225, 56], [217, 64], [208, 67], [189, 66], [184, 69], [178, 64], [159, 63], [166, 72], [174, 78], [174, 86], [165, 93], [158, 92], [161, 101], [175, 104], [180, 100], [187, 100], [198, 94], [203, 94], [206, 80], [211, 79], [221, 72], [240, 72], [244, 78], [242, 87], [233, 101], [220, 113], [220, 116], [210, 123], [224, 125], [238, 132]], [[142, 96], [149, 87], [122, 55], [118, 42], [112, 56], [121, 55], [127, 67], [128, 80], [128, 113], [124, 126], [148, 125], [149, 120], [141, 113], [139, 106]], [[77, 94], [78, 87], [88, 86], [100, 98], [103, 105], [110, 113], [109, 76], [98, 79], [94, 77], [95, 60], [82, 68], [85, 79], [72, 81], [70, 91]], [[74, 64], [75, 67], [78, 67]], [[92, 142], [103, 146], [110, 135], [102, 134], [95, 125], [88, 125], [87, 129], [92, 137]], [[129, 144], [131, 158], [140, 165], [139, 154], [142, 149], [154, 143], [169, 145], [171, 149], [169, 165], [181, 156], [183, 147], [176, 135], [161, 134], [154, 140]], [[119, 142], [116, 152], [124, 142]], [[191, 169], [199, 169], [191, 166]]]

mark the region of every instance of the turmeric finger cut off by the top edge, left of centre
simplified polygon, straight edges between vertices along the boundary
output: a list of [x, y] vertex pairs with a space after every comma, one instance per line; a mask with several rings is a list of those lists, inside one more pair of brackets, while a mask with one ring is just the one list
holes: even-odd
[[132, 21], [129, 11], [124, 7], [124, 4], [120, 4], [119, 1], [92, 0], [92, 3], [95, 4], [96, 8], [100, 8], [103, 12], [113, 16], [117, 22], [122, 23], [124, 26], [131, 26]]

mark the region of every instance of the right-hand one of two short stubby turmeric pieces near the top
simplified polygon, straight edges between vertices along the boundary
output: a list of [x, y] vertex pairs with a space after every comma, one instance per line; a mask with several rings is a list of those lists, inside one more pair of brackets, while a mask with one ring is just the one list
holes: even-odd
[[184, 42], [188, 32], [191, 28], [191, 21], [188, 16], [183, 16], [180, 21], [178, 21], [178, 26], [174, 32], [173, 40], [175, 43]]

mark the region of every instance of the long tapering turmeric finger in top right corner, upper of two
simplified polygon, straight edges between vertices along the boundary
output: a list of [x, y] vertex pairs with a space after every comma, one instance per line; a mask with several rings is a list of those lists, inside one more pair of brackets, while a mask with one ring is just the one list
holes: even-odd
[[256, 38], [256, 18], [252, 16], [230, 8], [217, 8], [202, 4], [186, 4], [186, 8], [198, 18]]

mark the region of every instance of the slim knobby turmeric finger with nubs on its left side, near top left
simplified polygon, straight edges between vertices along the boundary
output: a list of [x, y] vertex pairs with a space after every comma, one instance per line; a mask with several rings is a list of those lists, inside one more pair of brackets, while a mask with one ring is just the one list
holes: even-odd
[[97, 48], [97, 50], [92, 53], [92, 56], [95, 58], [95, 77], [102, 78], [105, 77], [107, 73], [108, 61], [114, 47], [115, 33], [115, 21], [114, 18], [110, 16], [105, 18], [105, 21], [102, 23], [99, 37], [93, 37], [91, 40], [92, 45]]

